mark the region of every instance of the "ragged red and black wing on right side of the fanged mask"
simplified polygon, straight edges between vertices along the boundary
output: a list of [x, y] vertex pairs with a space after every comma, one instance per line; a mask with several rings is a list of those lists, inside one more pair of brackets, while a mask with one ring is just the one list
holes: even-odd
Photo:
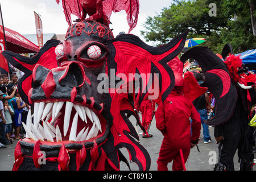
[[[152, 47], [142, 42], [138, 36], [131, 34], [119, 35], [117, 38], [108, 42], [110, 52], [106, 72], [108, 76], [111, 76], [113, 70], [117, 77], [119, 73], [127, 76], [127, 80], [122, 77], [126, 86], [129, 82], [134, 81], [133, 79], [129, 79], [129, 73], [138, 73], [139, 75], [157, 73], [158, 79], [152, 80], [151, 82], [146, 77], [142, 77], [143, 84], [139, 87], [141, 92], [137, 94], [137, 100], [141, 103], [148, 95], [148, 90], [146, 89], [152, 88], [153, 82], [158, 82], [159, 97], [164, 101], [175, 85], [174, 72], [167, 63], [182, 51], [186, 36], [187, 32], [172, 39], [165, 46]], [[114, 138], [114, 145], [117, 148], [126, 147], [130, 154], [130, 160], [137, 163], [139, 169], [148, 170], [150, 168], [150, 156], [133, 139], [134, 137], [139, 140], [139, 137], [126, 116], [126, 114], [130, 114], [138, 118], [138, 113], [134, 111], [135, 102], [129, 100], [129, 96], [133, 95], [131, 97], [134, 98], [135, 94], [117, 92], [111, 94], [111, 89], [113, 88], [110, 88], [110, 96], [112, 97], [110, 111], [113, 115], [112, 133], [115, 137], [118, 136]]]

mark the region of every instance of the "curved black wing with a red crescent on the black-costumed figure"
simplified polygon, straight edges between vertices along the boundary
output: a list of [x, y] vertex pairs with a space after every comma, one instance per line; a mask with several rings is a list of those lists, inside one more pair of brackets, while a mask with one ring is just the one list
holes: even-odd
[[[237, 103], [236, 85], [230, 78], [224, 62], [206, 47], [194, 47], [181, 56], [181, 61], [195, 59], [204, 72], [206, 86], [216, 100], [215, 115], [204, 121], [207, 125], [218, 125], [227, 121], [233, 114]], [[202, 85], [201, 85], [202, 86]]]

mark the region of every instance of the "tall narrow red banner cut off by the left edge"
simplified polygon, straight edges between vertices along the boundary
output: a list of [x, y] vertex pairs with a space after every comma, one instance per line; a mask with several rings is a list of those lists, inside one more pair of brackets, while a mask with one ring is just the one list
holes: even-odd
[[5, 27], [3, 26], [2, 10], [0, 5], [0, 67], [9, 73], [8, 61], [2, 55], [2, 51], [6, 50]]

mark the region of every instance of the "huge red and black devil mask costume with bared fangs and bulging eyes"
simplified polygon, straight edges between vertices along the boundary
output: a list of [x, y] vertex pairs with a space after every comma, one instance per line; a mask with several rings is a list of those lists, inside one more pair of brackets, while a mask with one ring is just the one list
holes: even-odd
[[[119, 170], [121, 161], [129, 165], [119, 150], [123, 147], [139, 170], [150, 169], [150, 155], [138, 143], [127, 117], [134, 115], [141, 126], [137, 108], [147, 92], [139, 92], [135, 99], [135, 93], [119, 90], [130, 90], [134, 79], [129, 73], [158, 74], [158, 98], [166, 100], [175, 85], [167, 62], [181, 52], [188, 32], [162, 47], [148, 46], [131, 34], [114, 38], [110, 14], [126, 10], [131, 30], [138, 1], [62, 2], [70, 25], [65, 40], [48, 40], [33, 57], [2, 52], [24, 72], [18, 84], [20, 97], [34, 109], [34, 120], [30, 111], [23, 124], [27, 135], [16, 145], [13, 170]], [[71, 13], [79, 18], [75, 23]], [[84, 19], [86, 14], [89, 18]], [[101, 50], [96, 59], [88, 54], [90, 47]], [[112, 71], [116, 79], [108, 80]], [[105, 80], [103, 93], [98, 92], [100, 76]], [[142, 82], [139, 90], [152, 87], [152, 81]]]

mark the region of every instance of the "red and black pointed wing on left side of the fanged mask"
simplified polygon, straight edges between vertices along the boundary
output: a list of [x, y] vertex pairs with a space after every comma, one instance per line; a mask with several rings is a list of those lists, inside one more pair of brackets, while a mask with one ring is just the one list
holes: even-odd
[[28, 92], [34, 85], [32, 72], [36, 64], [40, 64], [48, 69], [57, 67], [55, 47], [60, 43], [59, 40], [48, 40], [46, 44], [39, 50], [38, 54], [33, 57], [26, 57], [11, 51], [3, 51], [2, 55], [9, 61], [11, 65], [24, 72], [24, 75], [18, 81], [18, 92], [24, 102], [28, 101]]

